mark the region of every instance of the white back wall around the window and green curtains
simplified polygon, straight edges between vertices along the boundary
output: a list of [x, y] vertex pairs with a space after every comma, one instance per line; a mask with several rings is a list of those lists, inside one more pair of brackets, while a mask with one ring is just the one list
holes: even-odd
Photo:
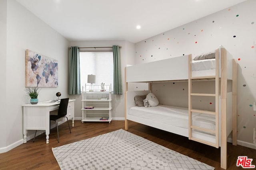
[[[128, 41], [71, 41], [70, 46], [78, 47], [112, 47], [112, 45], [122, 46], [121, 53], [121, 74], [122, 74], [122, 95], [112, 96], [112, 118], [114, 120], [124, 120], [124, 68], [127, 62], [134, 60], [134, 43]], [[82, 95], [70, 96], [75, 101], [75, 119], [82, 120]]]

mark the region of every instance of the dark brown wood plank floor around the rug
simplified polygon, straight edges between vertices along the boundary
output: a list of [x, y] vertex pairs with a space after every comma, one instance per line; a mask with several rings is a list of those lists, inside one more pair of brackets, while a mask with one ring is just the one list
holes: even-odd
[[[34, 143], [30, 140], [6, 153], [0, 154], [0, 169], [59, 170], [58, 163], [52, 154], [52, 147], [88, 139], [118, 129], [124, 129], [124, 121], [112, 121], [111, 123], [81, 123], [81, 121], [75, 121], [75, 127], [72, 127], [72, 133], [70, 134], [68, 124], [63, 123], [59, 126], [60, 143], [57, 141], [57, 130], [54, 128], [50, 133], [49, 144], [45, 143], [45, 134], [42, 134], [36, 137]], [[222, 169], [220, 168], [220, 149], [132, 121], [129, 121], [128, 131], [213, 166], [215, 170]], [[228, 143], [228, 170], [243, 169], [242, 167], [236, 167], [237, 157], [241, 155], [252, 158], [252, 164], [256, 165], [256, 150], [239, 145], [233, 146]]]

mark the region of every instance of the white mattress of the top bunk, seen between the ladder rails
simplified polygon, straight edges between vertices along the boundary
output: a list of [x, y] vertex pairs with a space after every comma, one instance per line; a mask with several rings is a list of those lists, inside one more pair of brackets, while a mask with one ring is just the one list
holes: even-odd
[[215, 69], [215, 59], [192, 61], [192, 71]]

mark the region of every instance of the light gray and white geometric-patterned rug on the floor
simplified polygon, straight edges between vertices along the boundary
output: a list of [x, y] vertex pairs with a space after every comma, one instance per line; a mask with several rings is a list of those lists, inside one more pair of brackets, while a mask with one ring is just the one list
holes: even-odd
[[213, 170], [125, 130], [52, 148], [62, 170]]

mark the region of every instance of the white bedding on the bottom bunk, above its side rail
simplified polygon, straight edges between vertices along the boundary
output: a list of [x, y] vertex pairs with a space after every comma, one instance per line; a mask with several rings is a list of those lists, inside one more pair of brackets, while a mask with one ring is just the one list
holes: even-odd
[[[130, 115], [159, 123], [188, 129], [188, 108], [158, 105], [156, 107], [131, 107]], [[192, 112], [192, 125], [215, 130], [214, 115]]]

